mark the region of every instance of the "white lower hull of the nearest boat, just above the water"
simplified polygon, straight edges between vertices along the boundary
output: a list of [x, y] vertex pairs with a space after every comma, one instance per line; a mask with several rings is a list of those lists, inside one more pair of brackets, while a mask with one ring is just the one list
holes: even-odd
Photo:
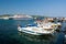
[[33, 34], [33, 35], [45, 35], [45, 34], [53, 34], [54, 33], [54, 31], [53, 32], [35, 32], [35, 31], [29, 31], [29, 30], [23, 30], [22, 28], [18, 28], [18, 30], [20, 31], [20, 32], [24, 32], [24, 33], [28, 33], [28, 34]]

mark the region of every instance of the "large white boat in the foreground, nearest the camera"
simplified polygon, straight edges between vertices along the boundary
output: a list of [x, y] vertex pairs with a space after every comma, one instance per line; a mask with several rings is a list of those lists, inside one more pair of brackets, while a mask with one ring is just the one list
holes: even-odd
[[24, 32], [24, 33], [29, 33], [29, 34], [34, 34], [34, 35], [44, 35], [44, 34], [53, 34], [55, 32], [55, 30], [57, 29], [57, 25], [52, 28], [51, 25], [44, 25], [42, 26], [26, 26], [26, 28], [21, 28], [18, 26], [18, 30], [20, 32]]

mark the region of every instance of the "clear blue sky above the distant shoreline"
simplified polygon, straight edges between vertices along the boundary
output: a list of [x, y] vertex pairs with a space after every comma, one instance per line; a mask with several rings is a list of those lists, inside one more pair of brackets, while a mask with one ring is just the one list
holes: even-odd
[[0, 0], [0, 15], [66, 16], [66, 0]]

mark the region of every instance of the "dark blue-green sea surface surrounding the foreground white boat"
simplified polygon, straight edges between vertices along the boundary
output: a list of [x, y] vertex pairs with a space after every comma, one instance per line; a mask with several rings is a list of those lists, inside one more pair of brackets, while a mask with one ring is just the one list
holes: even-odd
[[[18, 31], [18, 24], [23, 26], [32, 24], [33, 21], [0, 20], [0, 44], [65, 44], [62, 32], [54, 35], [35, 36]], [[65, 30], [66, 23], [62, 24], [62, 30]]]

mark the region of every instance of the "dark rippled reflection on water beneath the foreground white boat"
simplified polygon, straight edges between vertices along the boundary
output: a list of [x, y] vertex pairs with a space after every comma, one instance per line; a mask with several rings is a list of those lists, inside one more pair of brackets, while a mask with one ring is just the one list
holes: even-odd
[[57, 34], [55, 35], [30, 35], [30, 34], [26, 34], [26, 33], [23, 33], [23, 32], [18, 32], [19, 35], [23, 38], [26, 38], [28, 41], [31, 41], [31, 42], [40, 42], [41, 44], [44, 43], [44, 44], [50, 44], [50, 43], [54, 43], [55, 40], [56, 40], [56, 36]]

